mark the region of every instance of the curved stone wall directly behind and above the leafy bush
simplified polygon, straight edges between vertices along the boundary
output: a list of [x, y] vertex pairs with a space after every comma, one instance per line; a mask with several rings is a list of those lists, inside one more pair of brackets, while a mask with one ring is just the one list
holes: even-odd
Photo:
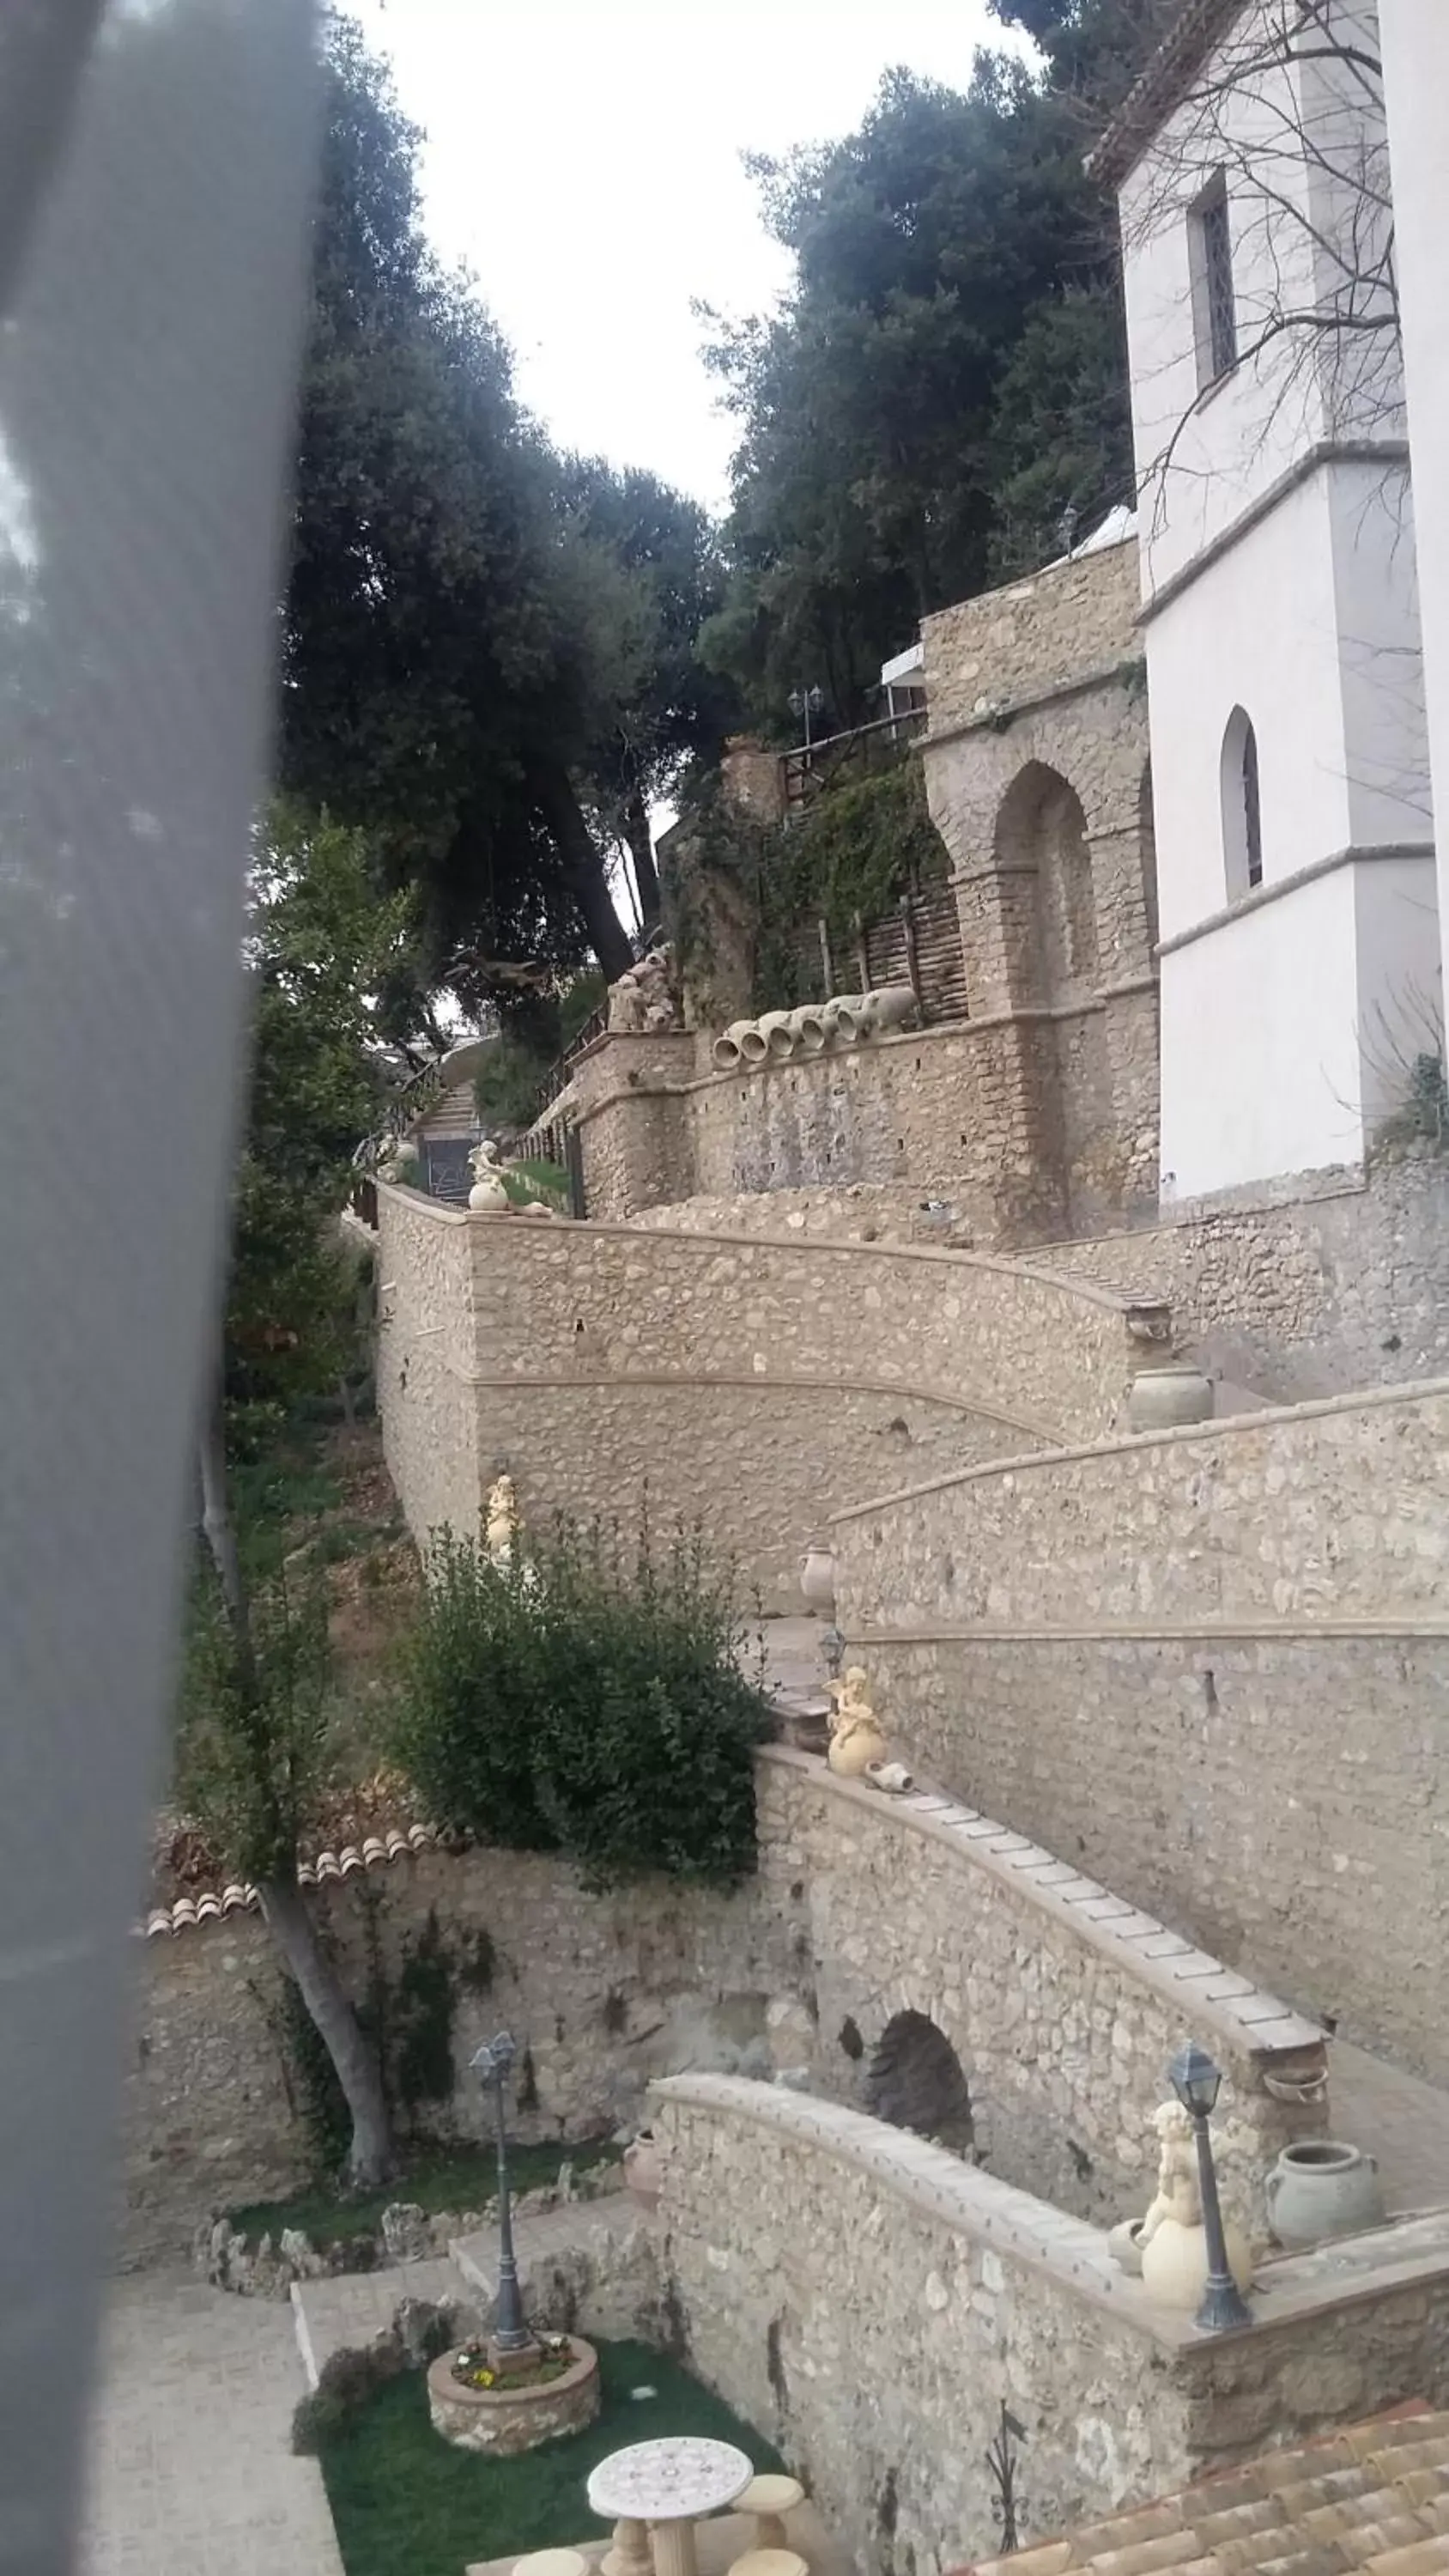
[[412, 1533], [703, 1522], [767, 1607], [831, 1512], [880, 1484], [1107, 1427], [1132, 1324], [1107, 1291], [880, 1244], [466, 1216], [378, 1193], [378, 1401]]

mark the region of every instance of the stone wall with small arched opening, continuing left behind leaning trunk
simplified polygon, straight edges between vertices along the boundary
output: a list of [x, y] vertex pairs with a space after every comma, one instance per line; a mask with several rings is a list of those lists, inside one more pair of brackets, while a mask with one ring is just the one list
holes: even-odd
[[[528, 2050], [520, 2133], [582, 2138], [636, 2117], [643, 2084], [685, 2066], [803, 2071], [860, 2097], [885, 2020], [919, 2009], [960, 2053], [993, 2169], [1117, 2215], [1145, 2197], [1143, 2125], [1168, 2045], [1194, 2027], [1228, 2069], [1225, 2184], [1248, 2210], [1287, 2136], [1264, 2053], [1287, 2066], [1313, 2043], [1019, 1834], [957, 1832], [945, 1801], [883, 1801], [782, 1747], [759, 1759], [759, 1875], [736, 1896], [659, 1880], [597, 1896], [566, 1862], [476, 1850], [399, 1857], [314, 1901], [355, 1996], [378, 1963], [396, 1989], [420, 1940], [440, 1945], [456, 2087], [420, 2120], [463, 2138], [484, 2133], [466, 2066], [499, 2020]], [[144, 1942], [129, 2259], [180, 2251], [216, 2210], [304, 2179], [281, 2002], [255, 1914]]]

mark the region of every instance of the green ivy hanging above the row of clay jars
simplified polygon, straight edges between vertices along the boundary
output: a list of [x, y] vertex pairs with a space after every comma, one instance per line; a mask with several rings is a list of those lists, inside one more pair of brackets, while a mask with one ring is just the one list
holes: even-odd
[[860, 922], [947, 873], [947, 848], [927, 806], [919, 755], [852, 786], [826, 788], [782, 827], [731, 806], [718, 781], [695, 799], [669, 853], [669, 935], [685, 976], [710, 984], [718, 896], [749, 920], [752, 1010], [821, 999], [818, 922], [834, 956], [854, 961]]

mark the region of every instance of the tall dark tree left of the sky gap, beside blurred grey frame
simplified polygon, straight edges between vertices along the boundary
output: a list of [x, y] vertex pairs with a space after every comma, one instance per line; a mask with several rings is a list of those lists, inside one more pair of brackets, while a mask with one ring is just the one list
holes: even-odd
[[592, 672], [571, 629], [553, 459], [468, 281], [430, 255], [417, 134], [342, 18], [301, 384], [283, 621], [288, 788], [420, 891], [425, 979], [492, 961], [610, 976], [631, 945], [569, 747]]

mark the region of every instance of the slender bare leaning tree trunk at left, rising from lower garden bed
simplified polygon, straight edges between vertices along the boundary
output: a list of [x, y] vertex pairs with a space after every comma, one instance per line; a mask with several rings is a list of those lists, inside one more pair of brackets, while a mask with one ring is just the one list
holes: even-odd
[[[206, 1546], [211, 1548], [221, 1600], [226, 1602], [226, 1620], [237, 1646], [242, 1687], [255, 1692], [257, 1667], [252, 1656], [247, 1577], [242, 1574], [237, 1522], [232, 1520], [232, 1504], [226, 1497], [226, 1432], [221, 1422], [221, 1396], [216, 1396], [201, 1432], [201, 1528]], [[296, 1978], [301, 2002], [306, 2004], [317, 2035], [337, 2069], [337, 2081], [353, 2115], [347, 2174], [353, 2182], [386, 2182], [394, 2156], [378, 2058], [376, 2050], [368, 2048], [358, 2027], [358, 2014], [342, 1991], [342, 1981], [317, 1937], [306, 1896], [301, 1893], [296, 1878], [263, 1878], [257, 1896], [263, 1901], [268, 1932]]]

